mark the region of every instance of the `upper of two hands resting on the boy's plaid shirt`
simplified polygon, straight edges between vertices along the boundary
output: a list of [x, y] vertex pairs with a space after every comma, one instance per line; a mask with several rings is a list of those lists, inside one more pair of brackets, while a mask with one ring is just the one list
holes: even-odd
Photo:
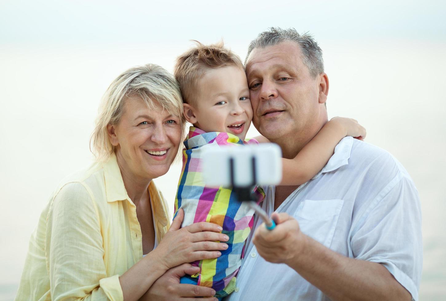
[[184, 210], [178, 210], [178, 214], [172, 222], [169, 231], [164, 235], [160, 244], [151, 252], [158, 262], [166, 270], [180, 264], [195, 260], [213, 259], [221, 256], [218, 250], [226, 250], [229, 237], [222, 233], [222, 227], [213, 223], [194, 223], [181, 228], [184, 218]]

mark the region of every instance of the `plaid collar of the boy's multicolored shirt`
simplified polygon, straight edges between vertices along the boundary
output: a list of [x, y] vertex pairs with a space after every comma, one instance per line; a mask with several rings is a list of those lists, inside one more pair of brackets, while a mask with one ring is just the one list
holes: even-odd
[[190, 127], [189, 134], [184, 140], [186, 149], [197, 148], [205, 144], [227, 145], [231, 143], [242, 144], [243, 140], [227, 132], [205, 132], [199, 128]]

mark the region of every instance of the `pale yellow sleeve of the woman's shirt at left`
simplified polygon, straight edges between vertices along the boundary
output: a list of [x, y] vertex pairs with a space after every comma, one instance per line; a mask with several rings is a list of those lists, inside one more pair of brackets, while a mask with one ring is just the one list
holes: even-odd
[[123, 300], [119, 275], [106, 275], [99, 216], [81, 183], [55, 196], [46, 232], [52, 300]]

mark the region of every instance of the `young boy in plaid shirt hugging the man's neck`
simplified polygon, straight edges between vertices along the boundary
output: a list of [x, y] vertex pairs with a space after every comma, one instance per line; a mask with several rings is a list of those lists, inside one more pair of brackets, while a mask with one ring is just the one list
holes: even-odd
[[[229, 236], [228, 248], [221, 251], [219, 258], [194, 262], [201, 271], [182, 277], [181, 282], [212, 287], [217, 292], [215, 297], [221, 299], [235, 289], [235, 275], [244, 256], [254, 211], [237, 200], [230, 188], [211, 188], [203, 183], [201, 147], [258, 143], [256, 139], [245, 140], [253, 114], [248, 83], [240, 58], [225, 49], [223, 43], [206, 46], [197, 42], [196, 47], [178, 58], [174, 75], [183, 95], [184, 116], [193, 124], [184, 141], [174, 217], [182, 208], [182, 227], [198, 222], [216, 223]], [[345, 136], [361, 139], [365, 130], [355, 120], [330, 120], [293, 160], [282, 159], [281, 185], [309, 181], [326, 165]], [[262, 136], [258, 140], [268, 142]], [[263, 190], [256, 187], [255, 193], [261, 202]]]

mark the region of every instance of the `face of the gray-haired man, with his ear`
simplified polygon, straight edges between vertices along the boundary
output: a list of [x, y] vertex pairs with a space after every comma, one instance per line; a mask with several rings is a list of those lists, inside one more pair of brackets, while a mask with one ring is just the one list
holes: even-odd
[[296, 43], [254, 49], [248, 57], [246, 75], [252, 122], [269, 140], [290, 135], [299, 138], [306, 135], [305, 131], [317, 128], [317, 132], [323, 125], [326, 111], [325, 99], [319, 97], [321, 76], [310, 75]]

